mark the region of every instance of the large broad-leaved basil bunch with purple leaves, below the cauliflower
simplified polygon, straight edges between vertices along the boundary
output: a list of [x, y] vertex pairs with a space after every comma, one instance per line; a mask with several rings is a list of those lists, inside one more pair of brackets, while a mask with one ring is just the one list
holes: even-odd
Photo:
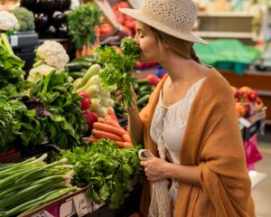
[[87, 127], [80, 109], [81, 97], [73, 91], [71, 81], [67, 73], [51, 71], [33, 82], [27, 104], [33, 113], [23, 119], [28, 124], [21, 129], [24, 146], [40, 146], [37, 136], [48, 137], [61, 148], [85, 144], [80, 137]]

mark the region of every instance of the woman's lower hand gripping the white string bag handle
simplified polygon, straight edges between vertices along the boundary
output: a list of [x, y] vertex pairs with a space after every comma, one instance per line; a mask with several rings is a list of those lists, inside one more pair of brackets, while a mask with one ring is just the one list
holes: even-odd
[[145, 175], [151, 182], [157, 182], [167, 179], [164, 174], [165, 167], [168, 163], [158, 157], [150, 156], [140, 162], [140, 165], [145, 167]]

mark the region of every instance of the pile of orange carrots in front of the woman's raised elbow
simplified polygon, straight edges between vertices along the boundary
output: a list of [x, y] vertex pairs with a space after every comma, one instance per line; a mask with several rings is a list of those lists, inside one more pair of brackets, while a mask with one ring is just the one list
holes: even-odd
[[117, 117], [112, 109], [107, 109], [106, 118], [98, 118], [92, 127], [92, 136], [89, 142], [96, 142], [100, 138], [107, 138], [117, 142], [120, 148], [132, 146], [128, 132], [119, 125]]

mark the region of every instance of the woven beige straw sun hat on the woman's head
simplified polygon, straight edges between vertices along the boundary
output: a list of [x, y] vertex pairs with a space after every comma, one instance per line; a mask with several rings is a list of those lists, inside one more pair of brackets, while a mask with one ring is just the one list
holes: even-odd
[[192, 0], [145, 0], [139, 10], [119, 8], [119, 11], [176, 38], [207, 43], [192, 33], [198, 13]]

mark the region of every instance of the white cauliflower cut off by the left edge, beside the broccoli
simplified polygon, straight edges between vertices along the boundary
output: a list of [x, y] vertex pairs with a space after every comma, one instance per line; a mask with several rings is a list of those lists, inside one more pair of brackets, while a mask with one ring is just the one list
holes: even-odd
[[19, 28], [19, 22], [16, 16], [7, 11], [0, 11], [0, 30], [14, 31]]

